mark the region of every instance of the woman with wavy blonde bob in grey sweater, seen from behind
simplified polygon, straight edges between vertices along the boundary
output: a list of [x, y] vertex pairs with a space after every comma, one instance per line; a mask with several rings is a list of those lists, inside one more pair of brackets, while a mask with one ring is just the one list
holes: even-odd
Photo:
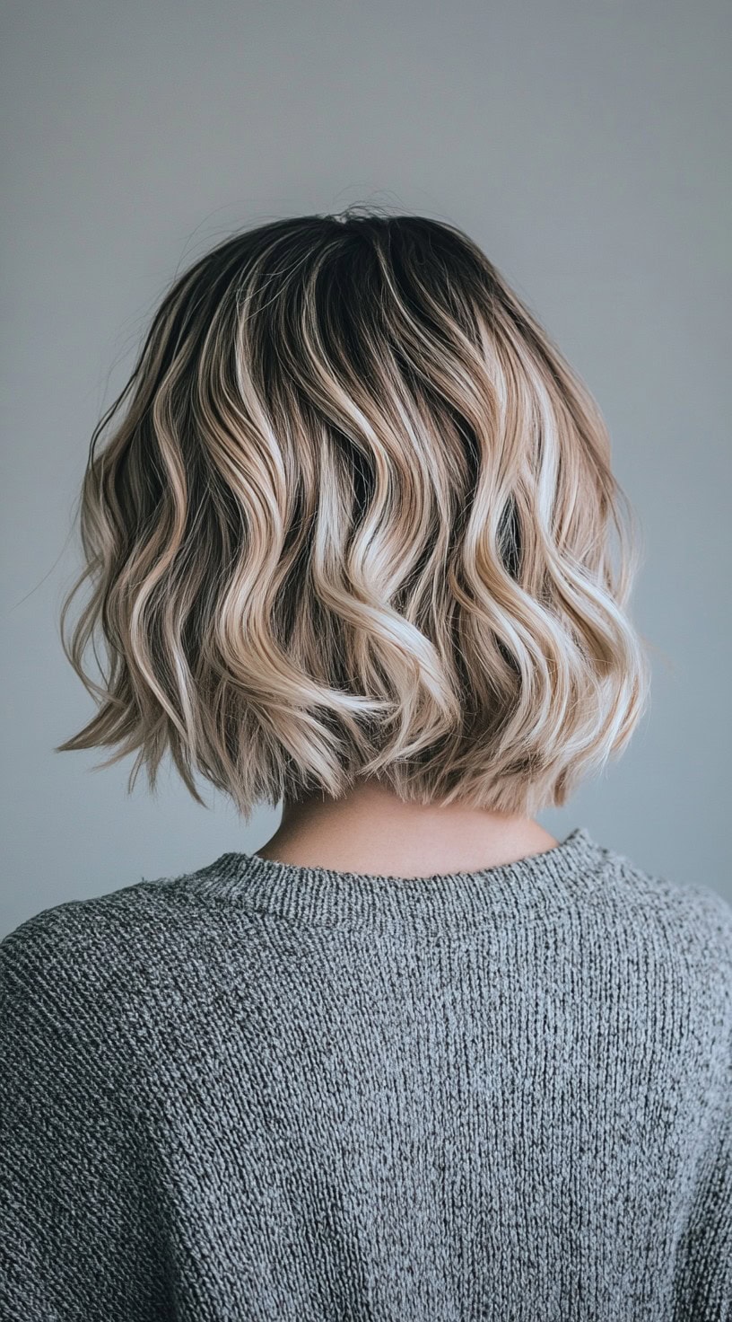
[[91, 444], [61, 750], [283, 824], [3, 941], [3, 1318], [732, 1315], [732, 910], [534, 820], [643, 711], [629, 512], [460, 230], [176, 280]]

